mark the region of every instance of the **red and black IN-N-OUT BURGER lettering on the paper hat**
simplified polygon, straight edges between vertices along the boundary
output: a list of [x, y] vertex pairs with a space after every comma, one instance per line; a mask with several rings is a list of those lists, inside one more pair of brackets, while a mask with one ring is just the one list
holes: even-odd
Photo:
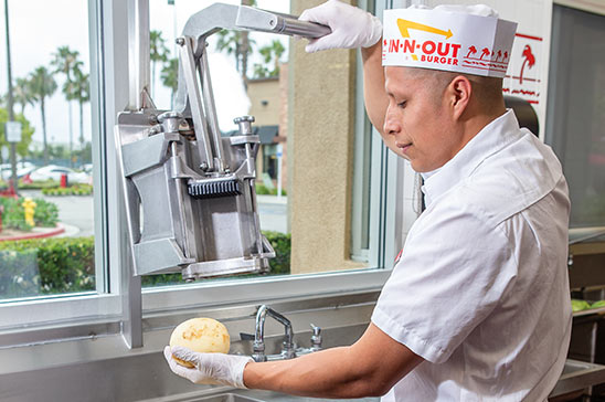
[[415, 39], [389, 40], [389, 53], [410, 53], [415, 61], [458, 65], [458, 51], [461, 45], [449, 42], [424, 41], [417, 43]]

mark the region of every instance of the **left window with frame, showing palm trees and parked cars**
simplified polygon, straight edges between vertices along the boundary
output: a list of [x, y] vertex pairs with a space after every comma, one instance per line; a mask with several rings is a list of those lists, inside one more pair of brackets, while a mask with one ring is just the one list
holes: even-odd
[[[0, 334], [36, 324], [116, 319], [121, 305], [118, 275], [114, 272], [110, 286], [107, 264], [107, 157], [102, 124], [103, 108], [115, 113], [108, 109], [112, 103], [103, 99], [106, 63], [100, 2], [11, 0], [8, 4], [13, 113], [22, 130], [15, 146], [17, 198], [8, 181], [12, 166], [0, 186]], [[108, 19], [106, 32], [113, 29], [112, 22], [119, 24]], [[124, 18], [124, 27], [125, 22]], [[114, 51], [109, 44], [105, 50], [106, 56]], [[10, 165], [11, 154], [4, 141], [10, 109], [6, 54], [2, 43], [2, 170]], [[33, 222], [26, 222], [28, 208], [33, 210]]]

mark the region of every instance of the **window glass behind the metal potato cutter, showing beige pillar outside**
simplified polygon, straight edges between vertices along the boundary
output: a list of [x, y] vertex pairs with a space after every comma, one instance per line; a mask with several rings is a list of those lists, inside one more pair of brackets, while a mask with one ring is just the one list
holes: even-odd
[[[299, 14], [308, 7], [294, 0], [222, 2], [288, 14]], [[174, 106], [176, 38], [189, 17], [212, 3], [150, 0], [151, 97], [158, 108]], [[233, 118], [255, 117], [253, 129], [261, 139], [256, 156], [261, 229], [277, 253], [269, 275], [375, 267], [369, 253], [360, 253], [360, 247], [372, 246], [369, 180], [353, 191], [353, 170], [370, 168], [370, 141], [355, 141], [355, 136], [371, 135], [363, 118], [363, 128], [355, 128], [357, 114], [364, 114], [361, 91], [355, 91], [354, 77], [360, 74], [355, 53], [309, 55], [304, 51], [305, 40], [261, 32], [250, 32], [245, 39], [242, 32], [220, 31], [208, 42], [223, 136], [237, 129]], [[246, 47], [247, 53], [241, 52]], [[360, 144], [368, 145], [365, 157], [355, 148]], [[352, 207], [354, 197], [363, 197], [363, 208]], [[354, 224], [355, 220], [362, 224]], [[352, 231], [364, 232], [357, 234], [362, 241], [355, 252]], [[142, 278], [144, 286], [179, 282], [180, 274]]]

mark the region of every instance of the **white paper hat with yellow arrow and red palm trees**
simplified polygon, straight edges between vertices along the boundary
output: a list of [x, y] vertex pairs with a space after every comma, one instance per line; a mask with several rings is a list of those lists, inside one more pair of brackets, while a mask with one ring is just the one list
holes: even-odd
[[385, 10], [382, 65], [503, 77], [517, 23], [487, 6]]

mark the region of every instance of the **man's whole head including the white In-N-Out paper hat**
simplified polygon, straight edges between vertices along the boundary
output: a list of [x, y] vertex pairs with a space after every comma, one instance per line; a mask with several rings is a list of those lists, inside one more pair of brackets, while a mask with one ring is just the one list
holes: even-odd
[[[506, 112], [502, 77], [517, 24], [487, 6], [386, 10], [383, 138], [416, 171], [441, 168]], [[477, 54], [477, 50], [481, 54]]]

